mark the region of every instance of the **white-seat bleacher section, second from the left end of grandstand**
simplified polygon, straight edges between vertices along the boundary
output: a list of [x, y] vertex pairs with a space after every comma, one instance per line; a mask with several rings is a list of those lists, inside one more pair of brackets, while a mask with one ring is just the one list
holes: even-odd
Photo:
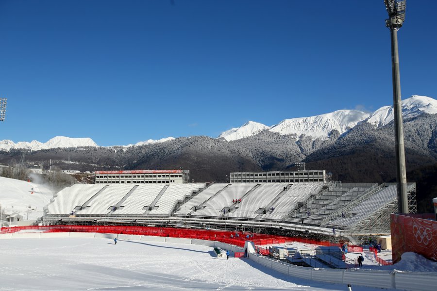
[[132, 184], [121, 184], [117, 187], [111, 186], [104, 189], [99, 195], [91, 200], [88, 205], [85, 205], [85, 209], [77, 211], [76, 214], [108, 214], [112, 210], [109, 208], [117, 205], [117, 203], [128, 194], [132, 188], [134, 188], [134, 185]]

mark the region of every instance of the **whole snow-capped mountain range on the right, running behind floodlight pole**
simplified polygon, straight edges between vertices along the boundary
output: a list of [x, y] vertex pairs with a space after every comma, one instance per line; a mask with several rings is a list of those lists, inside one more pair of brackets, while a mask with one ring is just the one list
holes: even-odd
[[[414, 95], [402, 101], [402, 113], [404, 118], [416, 117], [423, 113], [436, 114], [437, 100]], [[344, 133], [360, 122], [369, 122], [379, 128], [392, 120], [393, 106], [381, 107], [374, 113], [365, 113], [358, 110], [337, 110], [332, 113], [311, 117], [285, 119], [271, 127], [250, 121], [242, 127], [226, 130], [218, 137], [224, 138], [227, 141], [235, 141], [240, 138], [253, 136], [263, 130], [269, 130], [278, 132], [281, 135], [296, 134], [299, 137], [305, 134], [315, 138], [323, 138], [328, 137], [329, 132], [334, 129]], [[256, 125], [256, 128], [254, 125]]]

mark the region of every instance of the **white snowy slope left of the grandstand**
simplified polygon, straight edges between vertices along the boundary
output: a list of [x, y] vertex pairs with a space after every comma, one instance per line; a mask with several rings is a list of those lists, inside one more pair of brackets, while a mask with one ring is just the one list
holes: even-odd
[[36, 220], [52, 197], [53, 191], [43, 185], [0, 177], [0, 205], [5, 214], [17, 212], [24, 220]]

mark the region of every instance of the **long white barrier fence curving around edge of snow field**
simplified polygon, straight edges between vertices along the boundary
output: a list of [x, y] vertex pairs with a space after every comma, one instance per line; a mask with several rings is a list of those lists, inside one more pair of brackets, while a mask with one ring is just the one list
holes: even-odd
[[[40, 232], [40, 233], [7, 233], [0, 234], [0, 239], [34, 239], [34, 238], [105, 238], [118, 240], [134, 240], [146, 242], [170, 242], [183, 244], [197, 244], [219, 247], [232, 252], [244, 252], [244, 248], [223, 242], [199, 239], [156, 237], [147, 235], [94, 233], [94, 232]], [[361, 285], [374, 288], [398, 289], [407, 291], [434, 291], [437, 286], [437, 276], [432, 272], [400, 272], [363, 269], [319, 269], [299, 267], [285, 262], [269, 259], [255, 253], [249, 253], [252, 261], [273, 269], [279, 273], [308, 280]]]

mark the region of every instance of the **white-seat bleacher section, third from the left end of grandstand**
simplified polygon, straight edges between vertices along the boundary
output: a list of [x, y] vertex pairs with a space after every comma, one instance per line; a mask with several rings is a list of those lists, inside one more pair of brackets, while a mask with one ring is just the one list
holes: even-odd
[[122, 208], [118, 208], [112, 214], [143, 214], [146, 212], [144, 207], [149, 206], [153, 202], [164, 186], [164, 184], [139, 185], [134, 192], [121, 203], [120, 206], [122, 206]]

